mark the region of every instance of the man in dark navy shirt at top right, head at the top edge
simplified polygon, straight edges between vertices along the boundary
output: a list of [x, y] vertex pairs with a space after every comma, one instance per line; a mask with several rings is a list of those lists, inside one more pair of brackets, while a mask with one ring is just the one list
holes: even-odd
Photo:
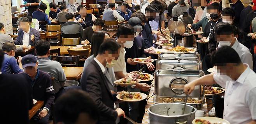
[[229, 3], [233, 3], [231, 8], [235, 11], [235, 25], [239, 24], [241, 11], [244, 9], [244, 5], [240, 0], [228, 0]]

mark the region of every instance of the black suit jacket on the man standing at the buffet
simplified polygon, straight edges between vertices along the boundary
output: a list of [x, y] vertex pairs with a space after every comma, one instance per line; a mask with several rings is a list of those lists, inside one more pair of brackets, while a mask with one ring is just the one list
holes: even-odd
[[86, 66], [82, 73], [82, 90], [89, 93], [95, 101], [100, 117], [97, 124], [116, 124], [117, 112], [114, 109], [116, 95], [112, 95], [107, 78], [103, 74], [100, 66], [95, 60]]

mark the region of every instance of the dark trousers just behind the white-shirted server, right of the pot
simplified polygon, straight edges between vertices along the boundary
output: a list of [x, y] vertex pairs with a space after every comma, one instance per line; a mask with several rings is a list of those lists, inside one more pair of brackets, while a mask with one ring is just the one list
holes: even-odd
[[220, 95], [213, 95], [212, 100], [215, 107], [216, 117], [223, 118], [224, 99]]

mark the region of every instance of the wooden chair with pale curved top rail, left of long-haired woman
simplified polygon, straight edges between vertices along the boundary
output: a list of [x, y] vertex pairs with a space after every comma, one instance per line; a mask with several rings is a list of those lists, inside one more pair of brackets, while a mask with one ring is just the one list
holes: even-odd
[[79, 55], [79, 61], [85, 61], [89, 57], [90, 49], [67, 49], [69, 56]]

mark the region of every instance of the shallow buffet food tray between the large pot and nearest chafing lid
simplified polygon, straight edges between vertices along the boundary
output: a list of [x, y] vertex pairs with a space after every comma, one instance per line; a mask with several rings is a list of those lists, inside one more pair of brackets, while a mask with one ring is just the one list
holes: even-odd
[[[189, 103], [189, 99], [192, 99], [192, 101], [201, 100], [201, 103]], [[158, 97], [154, 95], [154, 103], [155, 104], [161, 104], [161, 103], [181, 103], [184, 104], [184, 98], [181, 97]], [[191, 105], [196, 108], [203, 107], [203, 104], [205, 103], [205, 97], [202, 96], [200, 98], [188, 98], [187, 104]]]

